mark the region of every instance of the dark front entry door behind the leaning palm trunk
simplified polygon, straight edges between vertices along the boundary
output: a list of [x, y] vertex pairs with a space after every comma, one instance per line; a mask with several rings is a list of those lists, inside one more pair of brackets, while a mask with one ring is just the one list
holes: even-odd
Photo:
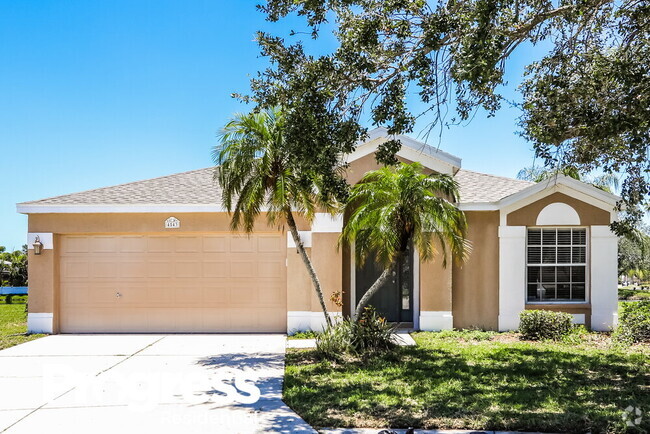
[[[384, 268], [368, 258], [363, 266], [357, 265], [355, 271], [356, 307]], [[390, 322], [413, 322], [413, 249], [409, 249], [409, 254], [368, 304]]]

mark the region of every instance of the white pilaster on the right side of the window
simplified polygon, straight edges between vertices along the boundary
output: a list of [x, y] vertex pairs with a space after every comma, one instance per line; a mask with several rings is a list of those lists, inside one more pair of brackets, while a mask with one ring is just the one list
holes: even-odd
[[591, 328], [609, 331], [618, 322], [618, 237], [609, 226], [591, 227]]

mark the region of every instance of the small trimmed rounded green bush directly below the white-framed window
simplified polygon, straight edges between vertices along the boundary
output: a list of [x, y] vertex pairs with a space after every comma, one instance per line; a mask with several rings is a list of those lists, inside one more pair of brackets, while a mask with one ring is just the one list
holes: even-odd
[[571, 333], [571, 314], [550, 310], [525, 310], [519, 314], [519, 333], [523, 339], [558, 341]]

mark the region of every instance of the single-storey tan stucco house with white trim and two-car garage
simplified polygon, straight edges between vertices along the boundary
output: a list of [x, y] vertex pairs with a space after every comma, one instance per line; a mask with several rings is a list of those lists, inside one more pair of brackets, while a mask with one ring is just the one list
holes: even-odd
[[[512, 330], [524, 309], [573, 314], [608, 330], [617, 320], [616, 196], [559, 176], [533, 184], [461, 169], [461, 160], [400, 136], [402, 161], [454, 175], [472, 252], [463, 265], [417, 252], [372, 300], [415, 329]], [[347, 157], [357, 182], [377, 168], [376, 129]], [[213, 168], [18, 204], [29, 215], [29, 330], [285, 332], [324, 318], [287, 233], [261, 218], [250, 237], [229, 231]], [[326, 298], [353, 301], [380, 271], [337, 248], [342, 217], [300, 223]], [[38, 235], [40, 256], [32, 249]]]

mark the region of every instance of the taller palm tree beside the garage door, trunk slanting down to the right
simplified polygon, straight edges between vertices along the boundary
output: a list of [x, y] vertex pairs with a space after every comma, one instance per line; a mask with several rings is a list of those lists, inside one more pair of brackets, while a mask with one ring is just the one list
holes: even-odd
[[334, 211], [334, 201], [323, 197], [317, 179], [301, 173], [283, 146], [284, 116], [280, 109], [236, 114], [219, 133], [213, 151], [215, 179], [223, 203], [232, 213], [231, 228], [251, 233], [256, 219], [266, 212], [268, 224], [285, 223], [318, 296], [325, 321], [331, 326], [320, 281], [300, 239], [294, 214], [307, 221], [315, 209]]

